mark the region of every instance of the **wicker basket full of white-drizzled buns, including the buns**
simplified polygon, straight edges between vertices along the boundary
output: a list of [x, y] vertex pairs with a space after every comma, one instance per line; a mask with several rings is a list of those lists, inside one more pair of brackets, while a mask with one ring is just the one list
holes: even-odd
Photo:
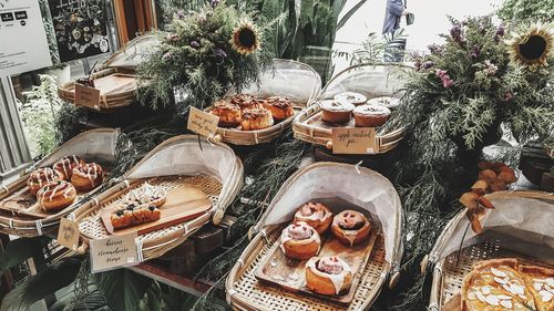
[[96, 193], [115, 158], [119, 131], [84, 132], [0, 190], [0, 231], [35, 236]]

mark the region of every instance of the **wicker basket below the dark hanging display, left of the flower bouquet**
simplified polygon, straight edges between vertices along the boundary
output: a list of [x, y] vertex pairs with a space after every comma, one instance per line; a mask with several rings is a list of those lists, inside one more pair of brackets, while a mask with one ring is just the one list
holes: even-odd
[[[143, 54], [156, 43], [156, 38], [145, 34], [130, 41], [116, 51], [91, 77], [100, 89], [99, 111], [124, 107], [136, 101], [135, 69]], [[66, 102], [75, 103], [75, 81], [58, 87], [58, 94]]]

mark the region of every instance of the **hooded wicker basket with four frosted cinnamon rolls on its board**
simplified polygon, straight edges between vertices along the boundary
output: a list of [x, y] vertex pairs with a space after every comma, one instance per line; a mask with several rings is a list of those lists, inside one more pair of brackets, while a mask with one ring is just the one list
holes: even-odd
[[302, 167], [250, 229], [227, 301], [235, 310], [367, 310], [398, 281], [401, 219], [398, 194], [378, 173]]

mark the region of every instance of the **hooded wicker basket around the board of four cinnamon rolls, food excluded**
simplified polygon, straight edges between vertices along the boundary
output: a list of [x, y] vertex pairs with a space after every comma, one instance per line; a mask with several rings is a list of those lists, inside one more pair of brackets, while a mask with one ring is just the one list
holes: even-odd
[[[310, 183], [309, 180], [314, 187], [305, 187], [306, 183]], [[370, 183], [373, 183], [376, 187], [367, 190], [362, 196], [357, 197], [355, 191], [348, 193], [349, 186], [353, 188], [353, 185], [360, 185], [361, 187]], [[343, 185], [343, 187], [340, 188], [338, 185]], [[331, 195], [330, 191], [337, 193]], [[369, 193], [375, 196], [368, 196]], [[387, 227], [381, 227], [368, 263], [359, 271], [361, 278], [356, 288], [355, 298], [346, 307], [279, 287], [267, 286], [255, 277], [255, 271], [269, 255], [269, 249], [279, 238], [279, 232], [286, 224], [275, 222], [290, 220], [298, 206], [294, 200], [304, 200], [307, 197], [321, 201], [326, 198], [331, 200], [343, 198], [341, 201], [347, 205], [365, 206], [360, 208], [371, 205], [375, 209], [370, 211], [372, 219], [377, 217], [380, 219], [379, 222], [387, 224]], [[377, 208], [376, 206], [381, 201], [389, 201], [390, 206], [380, 205], [383, 208]], [[381, 217], [387, 217], [387, 221], [383, 221]], [[255, 236], [227, 278], [227, 302], [235, 310], [367, 310], [379, 296], [389, 276], [391, 277], [389, 287], [393, 287], [398, 281], [398, 265], [402, 253], [401, 219], [400, 199], [390, 182], [381, 175], [368, 168], [348, 164], [318, 163], [304, 167], [283, 185], [260, 221], [253, 227], [252, 232]], [[388, 234], [391, 235], [387, 236]]]

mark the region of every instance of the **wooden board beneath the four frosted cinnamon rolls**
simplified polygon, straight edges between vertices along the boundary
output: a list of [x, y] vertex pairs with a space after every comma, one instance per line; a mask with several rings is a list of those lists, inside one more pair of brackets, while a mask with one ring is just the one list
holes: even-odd
[[321, 237], [321, 250], [317, 256], [338, 256], [345, 260], [352, 270], [352, 286], [350, 290], [341, 296], [324, 296], [312, 292], [306, 287], [305, 267], [308, 260], [297, 260], [285, 256], [279, 247], [279, 239], [269, 249], [268, 256], [256, 270], [258, 280], [285, 288], [295, 292], [304, 292], [320, 299], [348, 304], [353, 300], [356, 288], [360, 282], [361, 273], [358, 273], [368, 263], [371, 250], [377, 240], [378, 232], [371, 230], [366, 241], [352, 247], [347, 247], [327, 232]]

